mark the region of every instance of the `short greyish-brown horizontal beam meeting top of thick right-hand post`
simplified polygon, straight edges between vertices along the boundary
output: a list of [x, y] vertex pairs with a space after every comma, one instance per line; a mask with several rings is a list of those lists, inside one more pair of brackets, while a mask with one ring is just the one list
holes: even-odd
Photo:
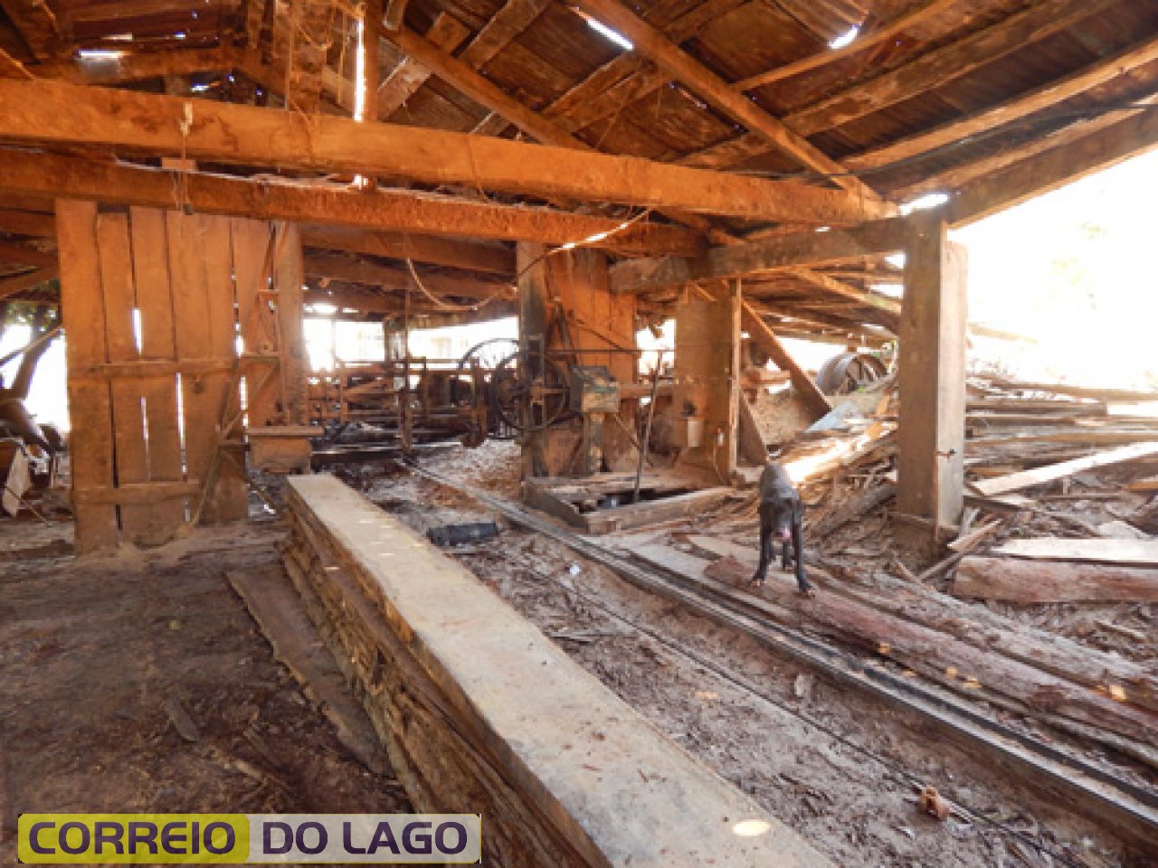
[[792, 233], [745, 244], [713, 248], [695, 259], [638, 259], [611, 270], [611, 290], [639, 293], [696, 280], [734, 278], [818, 263], [857, 259], [904, 249], [908, 218], [893, 218], [850, 229]]

